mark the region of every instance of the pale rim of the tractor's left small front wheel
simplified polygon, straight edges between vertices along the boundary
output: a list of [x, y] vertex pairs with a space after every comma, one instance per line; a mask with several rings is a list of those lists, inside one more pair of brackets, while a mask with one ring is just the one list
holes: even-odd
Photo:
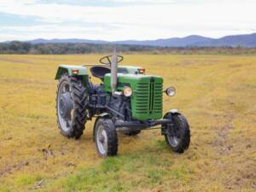
[[100, 125], [96, 132], [96, 143], [98, 150], [102, 155], [108, 152], [108, 136], [107, 132], [104, 130], [103, 125]]

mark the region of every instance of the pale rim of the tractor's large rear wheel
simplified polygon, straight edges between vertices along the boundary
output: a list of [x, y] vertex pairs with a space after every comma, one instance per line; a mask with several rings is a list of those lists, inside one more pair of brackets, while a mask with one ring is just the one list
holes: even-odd
[[67, 81], [62, 82], [58, 90], [57, 109], [61, 130], [70, 131], [73, 119], [73, 99]]

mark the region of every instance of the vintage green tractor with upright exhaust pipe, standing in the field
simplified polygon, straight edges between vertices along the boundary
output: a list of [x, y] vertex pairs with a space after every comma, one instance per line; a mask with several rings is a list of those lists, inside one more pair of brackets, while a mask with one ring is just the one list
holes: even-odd
[[[117, 131], [135, 136], [149, 129], [160, 129], [167, 145], [183, 153], [190, 143], [188, 121], [177, 109], [162, 119], [163, 93], [174, 96], [175, 89], [163, 90], [163, 78], [146, 75], [142, 67], [118, 67], [123, 59], [114, 53], [102, 57], [101, 64], [59, 66], [56, 115], [61, 134], [79, 139], [86, 121], [96, 117], [93, 139], [101, 157], [117, 154]], [[102, 83], [92, 83], [87, 68]]]

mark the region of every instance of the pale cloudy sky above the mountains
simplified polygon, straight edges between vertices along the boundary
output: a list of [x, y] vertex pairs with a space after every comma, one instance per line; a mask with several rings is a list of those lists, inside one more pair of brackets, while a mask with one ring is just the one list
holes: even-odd
[[0, 0], [0, 42], [146, 40], [256, 32], [256, 0]]

